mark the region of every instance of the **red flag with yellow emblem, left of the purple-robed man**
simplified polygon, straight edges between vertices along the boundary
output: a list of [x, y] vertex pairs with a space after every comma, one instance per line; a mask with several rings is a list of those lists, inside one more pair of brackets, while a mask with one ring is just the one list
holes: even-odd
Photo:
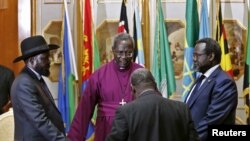
[[[100, 67], [100, 56], [97, 39], [94, 32], [91, 1], [85, 0], [83, 2], [83, 59], [82, 59], [82, 92], [88, 83], [89, 77], [94, 70]], [[91, 122], [88, 126], [86, 135], [87, 141], [94, 140], [94, 128], [96, 120], [96, 108]]]

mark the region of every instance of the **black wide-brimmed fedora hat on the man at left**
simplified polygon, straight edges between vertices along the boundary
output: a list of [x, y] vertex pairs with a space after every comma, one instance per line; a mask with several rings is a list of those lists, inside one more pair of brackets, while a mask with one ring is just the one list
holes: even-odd
[[17, 57], [13, 61], [13, 63], [18, 62], [20, 60], [28, 59], [37, 54], [57, 48], [59, 48], [58, 45], [54, 44], [48, 45], [43, 36], [41, 35], [28, 37], [21, 42], [22, 56]]

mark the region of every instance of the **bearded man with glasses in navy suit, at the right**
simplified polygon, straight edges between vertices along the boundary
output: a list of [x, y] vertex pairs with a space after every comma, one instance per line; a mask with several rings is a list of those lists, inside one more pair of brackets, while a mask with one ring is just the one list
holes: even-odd
[[235, 123], [238, 92], [235, 81], [221, 69], [221, 48], [212, 38], [196, 42], [194, 69], [201, 75], [185, 99], [196, 130], [202, 141], [207, 140], [209, 125]]

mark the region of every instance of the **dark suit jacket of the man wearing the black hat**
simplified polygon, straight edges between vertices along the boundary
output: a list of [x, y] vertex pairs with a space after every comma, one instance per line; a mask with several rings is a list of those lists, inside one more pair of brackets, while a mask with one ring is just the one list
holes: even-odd
[[48, 90], [24, 68], [11, 87], [15, 141], [64, 141], [61, 114]]

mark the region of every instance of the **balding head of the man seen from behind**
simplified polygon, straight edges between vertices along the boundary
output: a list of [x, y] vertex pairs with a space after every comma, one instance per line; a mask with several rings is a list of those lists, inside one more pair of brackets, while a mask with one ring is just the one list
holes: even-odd
[[136, 97], [145, 90], [157, 89], [152, 73], [146, 68], [139, 68], [131, 74], [131, 86]]

